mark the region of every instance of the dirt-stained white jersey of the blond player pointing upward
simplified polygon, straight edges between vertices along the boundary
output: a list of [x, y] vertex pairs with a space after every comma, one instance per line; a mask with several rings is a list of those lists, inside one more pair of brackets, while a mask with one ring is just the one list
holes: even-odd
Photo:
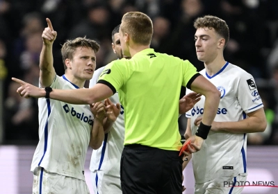
[[[64, 76], [56, 76], [53, 89], [78, 89]], [[38, 99], [39, 137], [31, 171], [38, 166], [50, 173], [84, 178], [85, 155], [92, 130], [89, 105], [72, 105], [59, 100]]]

